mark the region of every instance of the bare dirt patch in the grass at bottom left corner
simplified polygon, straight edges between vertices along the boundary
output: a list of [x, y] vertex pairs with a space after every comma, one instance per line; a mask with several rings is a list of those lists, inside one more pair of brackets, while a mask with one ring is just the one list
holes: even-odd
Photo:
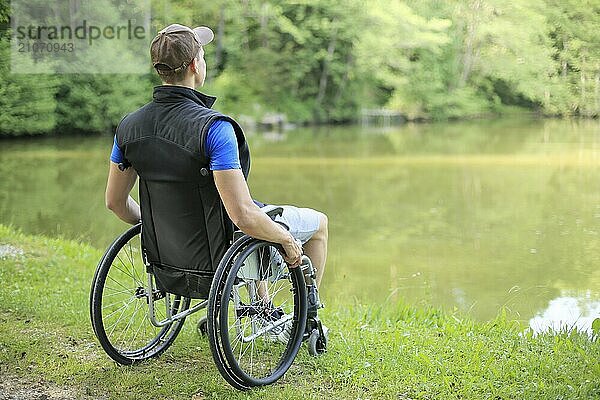
[[38, 379], [5, 375], [0, 379], [0, 400], [91, 400], [75, 388], [62, 388]]

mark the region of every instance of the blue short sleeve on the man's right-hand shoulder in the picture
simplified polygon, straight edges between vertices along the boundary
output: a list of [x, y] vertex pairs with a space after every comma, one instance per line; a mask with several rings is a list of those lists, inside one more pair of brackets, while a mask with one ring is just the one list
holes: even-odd
[[206, 134], [206, 156], [210, 160], [211, 171], [241, 169], [237, 137], [233, 125], [228, 121], [217, 120]]

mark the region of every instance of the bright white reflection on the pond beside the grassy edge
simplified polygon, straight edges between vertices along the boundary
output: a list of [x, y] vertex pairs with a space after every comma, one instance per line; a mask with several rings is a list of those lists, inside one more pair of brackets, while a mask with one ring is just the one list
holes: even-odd
[[535, 333], [578, 330], [592, 334], [592, 322], [600, 318], [600, 299], [591, 292], [581, 296], [564, 295], [552, 299], [548, 306], [529, 320]]

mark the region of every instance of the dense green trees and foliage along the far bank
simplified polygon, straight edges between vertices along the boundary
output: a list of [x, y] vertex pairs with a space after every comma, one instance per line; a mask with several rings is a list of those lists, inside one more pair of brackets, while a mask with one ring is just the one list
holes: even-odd
[[[9, 14], [0, 0], [4, 28]], [[153, 29], [174, 21], [213, 27], [205, 91], [238, 117], [335, 122], [374, 107], [409, 119], [600, 113], [599, 0], [152, 1]], [[2, 31], [0, 135], [106, 132], [158, 83], [150, 68], [18, 74]]]

